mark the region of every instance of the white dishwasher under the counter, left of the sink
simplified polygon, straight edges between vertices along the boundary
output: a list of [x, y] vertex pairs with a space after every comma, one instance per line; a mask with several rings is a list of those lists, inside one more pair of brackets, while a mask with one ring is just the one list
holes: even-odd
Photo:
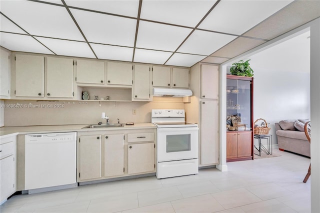
[[76, 132], [26, 134], [24, 168], [29, 193], [44, 187], [76, 187]]

